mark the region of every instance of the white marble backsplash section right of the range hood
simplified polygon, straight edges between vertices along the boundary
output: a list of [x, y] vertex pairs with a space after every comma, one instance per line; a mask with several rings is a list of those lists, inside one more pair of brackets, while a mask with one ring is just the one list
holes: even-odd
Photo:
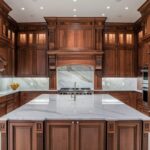
[[137, 78], [103, 78], [103, 90], [137, 90]]

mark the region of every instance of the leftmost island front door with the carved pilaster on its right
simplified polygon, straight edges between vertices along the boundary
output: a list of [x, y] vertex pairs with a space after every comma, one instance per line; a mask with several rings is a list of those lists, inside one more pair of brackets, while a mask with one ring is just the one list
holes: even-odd
[[42, 123], [10, 121], [8, 150], [43, 150]]

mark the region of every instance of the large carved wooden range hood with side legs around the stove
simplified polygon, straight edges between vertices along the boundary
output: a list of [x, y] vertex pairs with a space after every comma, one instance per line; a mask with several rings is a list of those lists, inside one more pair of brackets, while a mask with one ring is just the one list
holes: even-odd
[[101, 89], [105, 17], [45, 17], [48, 25], [50, 89], [57, 89], [58, 66], [91, 65], [94, 88]]

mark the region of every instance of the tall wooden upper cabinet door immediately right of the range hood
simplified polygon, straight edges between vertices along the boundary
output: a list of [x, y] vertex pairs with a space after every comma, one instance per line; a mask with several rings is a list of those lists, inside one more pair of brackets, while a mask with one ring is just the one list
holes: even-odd
[[116, 50], [105, 50], [104, 54], [104, 76], [115, 77], [116, 72]]

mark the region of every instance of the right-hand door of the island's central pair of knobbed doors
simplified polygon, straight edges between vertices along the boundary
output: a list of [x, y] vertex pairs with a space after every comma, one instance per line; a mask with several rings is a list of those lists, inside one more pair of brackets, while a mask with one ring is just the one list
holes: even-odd
[[75, 150], [105, 150], [105, 140], [105, 122], [77, 122]]

